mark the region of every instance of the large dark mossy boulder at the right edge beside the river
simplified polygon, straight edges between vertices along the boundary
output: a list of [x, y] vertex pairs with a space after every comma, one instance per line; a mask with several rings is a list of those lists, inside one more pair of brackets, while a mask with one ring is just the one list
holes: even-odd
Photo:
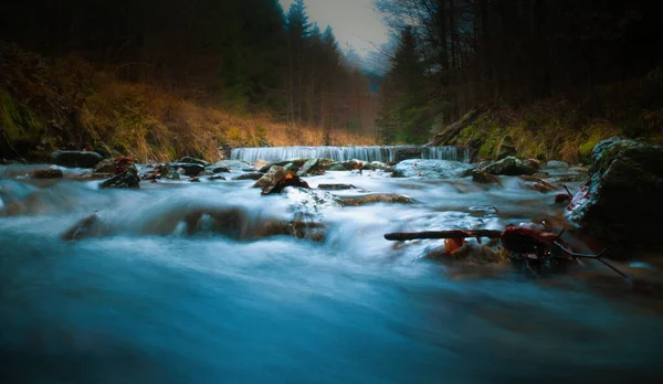
[[663, 147], [611, 138], [592, 151], [591, 177], [569, 220], [609, 243], [661, 247]]

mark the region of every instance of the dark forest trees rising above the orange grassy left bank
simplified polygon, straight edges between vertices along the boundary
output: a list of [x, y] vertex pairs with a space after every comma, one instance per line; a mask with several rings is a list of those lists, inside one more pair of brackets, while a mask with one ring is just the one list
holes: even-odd
[[[266, 114], [286, 128], [311, 127], [319, 132], [319, 143], [332, 143], [334, 132], [349, 130], [372, 137], [375, 131], [368, 79], [346, 57], [330, 26], [320, 29], [308, 21], [302, 0], [294, 2], [287, 12], [277, 0], [15, 2], [0, 13], [0, 40], [48, 58], [75, 55], [118, 82], [158, 87], [198, 106], [244, 115]], [[17, 76], [8, 66], [31, 61], [17, 60], [15, 49], [6, 47], [2, 55], [6, 67], [1, 73], [8, 85], [2, 94], [6, 100], [12, 100], [6, 104], [30, 109], [28, 113], [32, 114], [38, 102], [24, 88], [38, 86], [22, 82], [40, 68], [23, 68], [29, 74]], [[66, 65], [69, 72], [77, 71], [71, 66]], [[64, 77], [52, 71], [46, 75]], [[52, 87], [55, 82], [50, 78], [42, 83]], [[32, 78], [32, 83], [40, 79]], [[85, 86], [81, 84], [78, 88]], [[61, 88], [51, 90], [66, 96]], [[80, 102], [71, 107], [71, 115], [90, 110], [85, 108], [88, 104]], [[25, 114], [6, 109], [6, 120], [7, 116]], [[38, 110], [36, 115], [49, 114]], [[69, 126], [69, 131], [84, 130], [86, 125], [75, 116], [64, 120], [62, 124]], [[6, 139], [15, 143], [20, 135], [8, 138], [13, 131], [3, 129]], [[257, 130], [257, 135], [264, 135], [262, 128]], [[97, 139], [94, 134], [69, 136], [61, 141], [73, 140], [83, 146]], [[150, 141], [150, 135], [147, 136]], [[293, 135], [292, 140], [297, 143], [298, 136]], [[257, 143], [246, 141], [246, 145]], [[178, 148], [175, 151], [180, 152]]]

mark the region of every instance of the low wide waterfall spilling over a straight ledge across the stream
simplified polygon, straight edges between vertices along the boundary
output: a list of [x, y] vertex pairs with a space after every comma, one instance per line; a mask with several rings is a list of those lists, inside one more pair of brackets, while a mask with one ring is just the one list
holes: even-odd
[[232, 150], [232, 160], [255, 162], [259, 159], [266, 161], [324, 158], [334, 161], [362, 160], [399, 162], [407, 159], [439, 159], [469, 161], [469, 150], [464, 147], [269, 147], [269, 148], [235, 148]]

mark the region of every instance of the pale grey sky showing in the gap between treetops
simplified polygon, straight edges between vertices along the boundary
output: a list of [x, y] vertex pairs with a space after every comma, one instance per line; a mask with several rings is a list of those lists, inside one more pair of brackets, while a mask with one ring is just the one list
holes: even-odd
[[[280, 1], [287, 13], [294, 0]], [[323, 31], [332, 25], [343, 50], [350, 44], [366, 56], [375, 50], [372, 44], [380, 46], [389, 40], [387, 26], [372, 10], [372, 0], [304, 0], [304, 3], [309, 22], [317, 23]]]

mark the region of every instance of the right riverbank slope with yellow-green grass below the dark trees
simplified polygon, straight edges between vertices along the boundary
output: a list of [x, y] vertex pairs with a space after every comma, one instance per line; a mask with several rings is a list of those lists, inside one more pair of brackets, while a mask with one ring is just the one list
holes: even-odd
[[439, 131], [436, 146], [469, 146], [473, 159], [518, 156], [589, 163], [597, 143], [624, 137], [663, 143], [663, 75], [597, 86], [514, 108], [476, 108]]

